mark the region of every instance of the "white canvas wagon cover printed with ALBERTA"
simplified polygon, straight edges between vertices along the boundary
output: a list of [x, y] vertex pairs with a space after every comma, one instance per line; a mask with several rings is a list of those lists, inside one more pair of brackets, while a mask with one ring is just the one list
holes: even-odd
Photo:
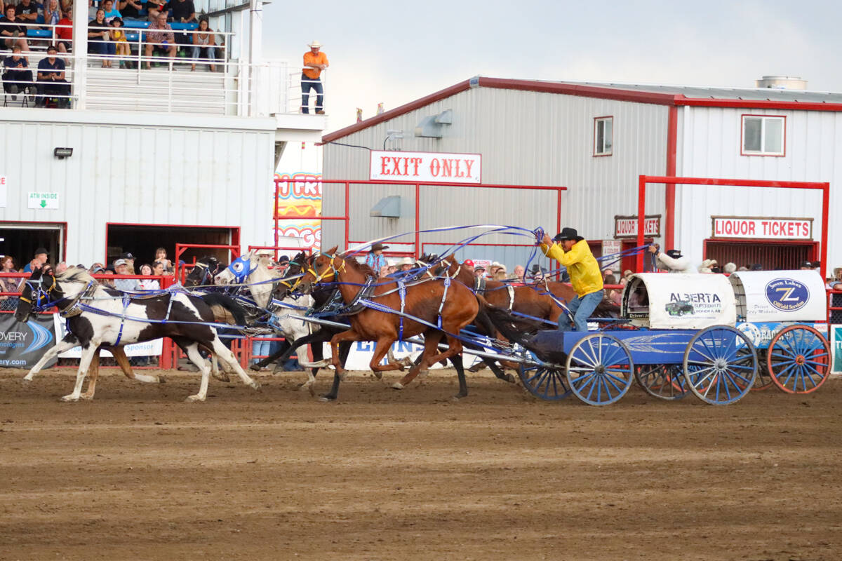
[[[647, 306], [639, 304], [642, 287]], [[703, 329], [737, 321], [731, 284], [716, 274], [636, 274], [623, 294], [623, 314], [652, 329]]]

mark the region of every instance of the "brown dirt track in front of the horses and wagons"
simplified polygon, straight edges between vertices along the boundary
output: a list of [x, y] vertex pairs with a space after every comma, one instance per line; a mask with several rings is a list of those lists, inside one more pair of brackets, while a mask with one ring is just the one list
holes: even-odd
[[448, 372], [352, 375], [336, 404], [302, 373], [204, 404], [195, 374], [108, 371], [76, 404], [71, 370], [23, 375], [0, 371], [3, 559], [842, 558], [839, 379], [595, 408], [483, 374], [459, 403]]

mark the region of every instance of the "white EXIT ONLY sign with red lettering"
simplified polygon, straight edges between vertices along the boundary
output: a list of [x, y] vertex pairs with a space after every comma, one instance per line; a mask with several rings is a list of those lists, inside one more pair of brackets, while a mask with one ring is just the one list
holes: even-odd
[[369, 179], [395, 183], [482, 183], [482, 155], [372, 150]]

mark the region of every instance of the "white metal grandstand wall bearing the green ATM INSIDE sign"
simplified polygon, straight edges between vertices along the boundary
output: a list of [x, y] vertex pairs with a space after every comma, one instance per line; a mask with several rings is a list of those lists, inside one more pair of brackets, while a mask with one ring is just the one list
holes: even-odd
[[[0, 174], [9, 185], [0, 220], [67, 222], [68, 262], [104, 259], [108, 222], [239, 226], [244, 246], [272, 241], [273, 119], [241, 128], [225, 118], [202, 126], [173, 116], [159, 124], [61, 118], [0, 121]], [[57, 159], [56, 146], [73, 155]], [[59, 193], [59, 209], [27, 209], [31, 191]]]

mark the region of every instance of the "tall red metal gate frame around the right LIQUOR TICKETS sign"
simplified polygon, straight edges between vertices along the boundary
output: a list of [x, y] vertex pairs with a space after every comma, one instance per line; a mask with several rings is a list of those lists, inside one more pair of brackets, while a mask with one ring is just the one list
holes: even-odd
[[[820, 248], [821, 274], [826, 278], [828, 268], [828, 218], [830, 183], [807, 181], [768, 181], [759, 179], [722, 179], [718, 177], [673, 177], [642, 175], [637, 183], [637, 245], [643, 245], [643, 220], [646, 209], [646, 186], [648, 183], [668, 185], [721, 185], [724, 187], [764, 187], [782, 189], [821, 189], [822, 191], [822, 242]], [[668, 213], [670, 209], [667, 209]], [[643, 270], [643, 254], [637, 255], [637, 270]]]

